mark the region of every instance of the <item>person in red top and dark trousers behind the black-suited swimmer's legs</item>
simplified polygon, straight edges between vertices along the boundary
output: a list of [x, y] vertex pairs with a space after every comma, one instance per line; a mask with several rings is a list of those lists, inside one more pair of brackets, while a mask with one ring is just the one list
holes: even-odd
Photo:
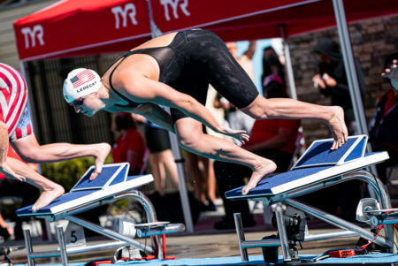
[[[278, 57], [268, 55], [264, 57], [264, 70], [275, 70], [264, 75], [264, 96], [267, 98], [287, 97], [285, 85], [278, 72], [283, 74], [283, 66]], [[297, 138], [300, 120], [291, 119], [266, 119], [256, 120], [253, 125], [249, 142], [242, 148], [248, 149], [259, 156], [270, 158], [277, 164], [276, 171], [288, 170], [295, 152], [295, 141]], [[243, 226], [256, 224], [249, 212], [247, 201], [228, 201], [225, 192], [238, 186], [244, 185], [244, 179], [249, 178], [251, 171], [248, 167], [236, 163], [216, 161], [214, 163], [218, 190], [226, 209], [226, 216], [214, 224], [215, 229], [234, 228], [233, 213], [240, 212]]]

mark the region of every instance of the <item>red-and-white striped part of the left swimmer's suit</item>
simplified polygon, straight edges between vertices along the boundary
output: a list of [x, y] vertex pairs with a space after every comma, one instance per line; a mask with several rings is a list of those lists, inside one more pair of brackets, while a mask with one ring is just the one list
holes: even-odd
[[27, 106], [27, 84], [22, 75], [10, 65], [0, 63], [0, 120], [14, 133]]

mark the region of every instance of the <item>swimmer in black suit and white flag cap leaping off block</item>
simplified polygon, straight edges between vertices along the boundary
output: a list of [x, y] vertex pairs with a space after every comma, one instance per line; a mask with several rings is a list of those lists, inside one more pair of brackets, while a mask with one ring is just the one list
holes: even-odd
[[[316, 118], [331, 127], [332, 149], [347, 141], [340, 107], [265, 99], [226, 44], [216, 34], [200, 29], [165, 34], [143, 43], [119, 57], [102, 79], [92, 70], [73, 70], [65, 80], [64, 97], [76, 112], [88, 117], [99, 110], [141, 114], [176, 133], [180, 146], [188, 151], [249, 166], [253, 173], [242, 189], [242, 194], [248, 194], [265, 174], [275, 171], [276, 164], [203, 133], [202, 123], [216, 133], [249, 141], [245, 131], [219, 125], [204, 107], [209, 84], [252, 118]], [[171, 114], [157, 104], [170, 107]]]

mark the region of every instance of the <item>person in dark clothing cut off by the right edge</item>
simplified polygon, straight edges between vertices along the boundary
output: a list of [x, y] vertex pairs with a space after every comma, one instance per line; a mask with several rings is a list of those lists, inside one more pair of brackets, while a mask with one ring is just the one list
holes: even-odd
[[[383, 77], [388, 80], [390, 88], [379, 99], [377, 110], [371, 123], [370, 139], [374, 151], [387, 151], [390, 158], [376, 165], [379, 179], [387, 185], [387, 168], [398, 163], [398, 54], [387, 57]], [[395, 85], [395, 87], [394, 87]]]

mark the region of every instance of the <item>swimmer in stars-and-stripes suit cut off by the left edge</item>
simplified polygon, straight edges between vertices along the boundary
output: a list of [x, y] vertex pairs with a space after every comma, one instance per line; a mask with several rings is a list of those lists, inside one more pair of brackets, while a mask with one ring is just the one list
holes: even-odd
[[64, 188], [50, 179], [44, 178], [26, 163], [7, 156], [9, 144], [27, 163], [50, 163], [82, 156], [93, 156], [96, 171], [90, 179], [95, 179], [102, 171], [103, 161], [111, 151], [108, 143], [73, 145], [52, 143], [39, 145], [32, 129], [27, 106], [27, 84], [22, 75], [10, 65], [0, 63], [0, 171], [7, 178], [28, 181], [42, 189], [42, 194], [34, 202], [33, 211], [50, 204]]

